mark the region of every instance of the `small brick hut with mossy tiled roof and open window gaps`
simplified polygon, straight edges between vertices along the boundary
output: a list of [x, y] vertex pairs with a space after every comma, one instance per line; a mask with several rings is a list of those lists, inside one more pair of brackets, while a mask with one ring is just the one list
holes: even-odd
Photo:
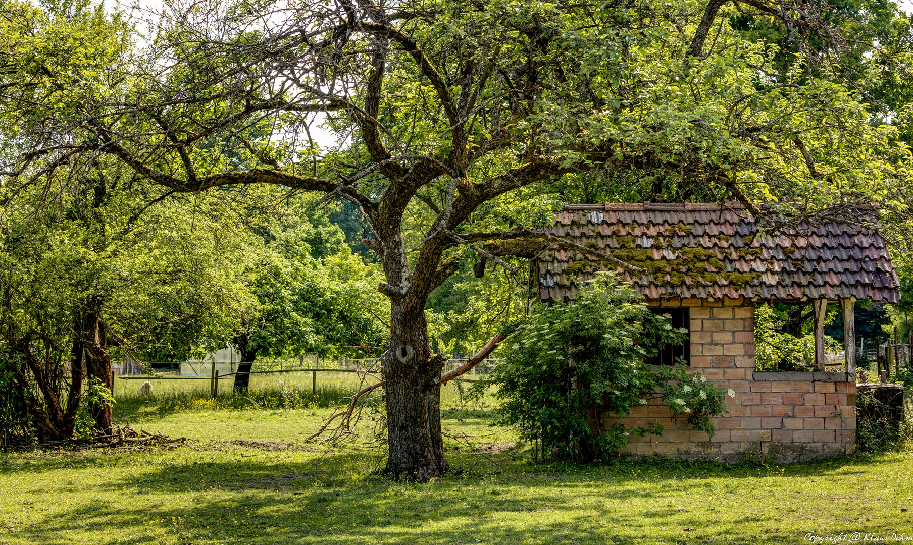
[[[860, 214], [873, 214], [863, 210]], [[729, 413], [716, 433], [664, 424], [662, 435], [631, 437], [627, 454], [779, 462], [855, 452], [856, 299], [896, 303], [899, 283], [884, 238], [846, 223], [772, 227], [740, 204], [569, 204], [551, 233], [644, 269], [618, 273], [650, 307], [689, 331], [680, 355], [723, 390]], [[534, 264], [540, 299], [571, 301], [604, 262], [552, 247]], [[813, 304], [816, 372], [757, 372], [754, 308], [759, 302]], [[844, 315], [845, 372], [824, 372], [824, 313]], [[668, 422], [658, 402], [636, 407], [624, 424]], [[607, 422], [606, 424], [611, 424]]]

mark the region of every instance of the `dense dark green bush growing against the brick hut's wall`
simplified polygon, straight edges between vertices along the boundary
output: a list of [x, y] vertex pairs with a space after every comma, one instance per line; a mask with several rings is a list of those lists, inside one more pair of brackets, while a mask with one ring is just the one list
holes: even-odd
[[685, 366], [655, 369], [645, 363], [686, 334], [603, 273], [582, 288], [575, 304], [537, 308], [477, 384], [498, 386], [499, 422], [516, 426], [544, 458], [600, 458], [626, 445], [632, 433], [659, 433], [658, 423], [633, 429], [603, 424], [603, 418], [626, 416], [656, 397], [712, 434], [709, 417], [725, 412], [724, 394]]

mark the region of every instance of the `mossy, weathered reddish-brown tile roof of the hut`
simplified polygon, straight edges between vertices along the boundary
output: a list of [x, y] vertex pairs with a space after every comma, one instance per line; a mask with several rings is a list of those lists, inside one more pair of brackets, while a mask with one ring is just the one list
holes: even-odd
[[[568, 204], [549, 230], [644, 268], [643, 275], [617, 271], [649, 299], [900, 299], [876, 230], [837, 222], [771, 225], [737, 203], [606, 203]], [[557, 246], [536, 266], [540, 299], [559, 301], [575, 299], [582, 280], [611, 267]]]

